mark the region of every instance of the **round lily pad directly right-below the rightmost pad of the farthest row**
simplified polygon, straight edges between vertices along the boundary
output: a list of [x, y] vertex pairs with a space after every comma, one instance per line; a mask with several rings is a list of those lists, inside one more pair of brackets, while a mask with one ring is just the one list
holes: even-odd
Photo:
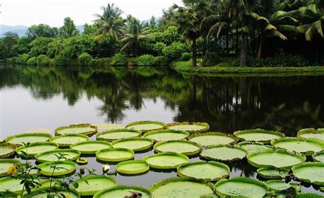
[[189, 141], [198, 143], [203, 146], [210, 145], [229, 145], [239, 141], [239, 138], [232, 134], [224, 134], [219, 132], [205, 132], [191, 134]]

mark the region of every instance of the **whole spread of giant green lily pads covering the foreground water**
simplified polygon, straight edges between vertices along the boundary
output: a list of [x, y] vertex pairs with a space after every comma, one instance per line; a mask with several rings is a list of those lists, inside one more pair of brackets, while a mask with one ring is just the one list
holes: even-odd
[[[19, 193], [22, 184], [8, 175], [8, 169], [20, 161], [12, 157], [27, 153], [35, 158], [47, 177], [64, 177], [75, 172], [81, 156], [96, 156], [103, 164], [116, 164], [121, 175], [144, 174], [150, 169], [176, 169], [178, 177], [162, 180], [148, 188], [117, 185], [115, 177], [88, 175], [77, 180], [78, 187], [61, 192], [66, 197], [323, 197], [300, 193], [299, 182], [324, 190], [324, 129], [301, 129], [297, 137], [264, 129], [249, 129], [224, 134], [208, 132], [208, 123], [172, 123], [140, 121], [126, 127], [114, 124], [80, 124], [36, 130], [5, 138], [0, 143], [0, 192]], [[96, 140], [90, 140], [91, 136]], [[24, 143], [31, 143], [26, 146]], [[134, 160], [135, 153], [155, 153]], [[65, 160], [57, 161], [64, 153]], [[200, 160], [189, 162], [199, 156]], [[229, 163], [243, 159], [254, 166], [267, 182], [248, 177], [230, 177]], [[85, 162], [84, 162], [85, 161]], [[307, 161], [307, 162], [306, 162]], [[53, 170], [53, 164], [62, 169]], [[284, 179], [293, 179], [286, 182]], [[46, 197], [48, 180], [25, 197]], [[44, 193], [45, 192], [45, 193]]]

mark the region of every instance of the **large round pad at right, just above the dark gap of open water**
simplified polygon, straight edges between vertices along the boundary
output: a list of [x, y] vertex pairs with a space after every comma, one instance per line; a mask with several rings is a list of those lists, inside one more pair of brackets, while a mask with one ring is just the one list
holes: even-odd
[[260, 151], [247, 154], [247, 162], [257, 168], [275, 167], [278, 169], [290, 169], [291, 166], [306, 161], [306, 157], [298, 153], [291, 153], [283, 149], [275, 151]]

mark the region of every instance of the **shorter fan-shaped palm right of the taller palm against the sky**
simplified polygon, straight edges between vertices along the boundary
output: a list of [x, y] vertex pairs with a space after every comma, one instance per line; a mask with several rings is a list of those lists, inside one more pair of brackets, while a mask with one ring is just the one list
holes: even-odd
[[131, 49], [136, 57], [138, 56], [139, 43], [152, 37], [150, 27], [145, 27], [143, 22], [131, 15], [127, 16], [126, 26], [122, 29], [122, 34], [120, 40], [124, 43], [124, 46], [120, 51]]

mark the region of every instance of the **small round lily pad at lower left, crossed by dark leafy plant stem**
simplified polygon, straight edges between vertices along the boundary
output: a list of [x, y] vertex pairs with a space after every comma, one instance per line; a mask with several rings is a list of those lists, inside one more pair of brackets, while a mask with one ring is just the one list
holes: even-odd
[[[55, 167], [54, 173], [53, 169]], [[59, 161], [59, 162], [44, 162], [38, 165], [40, 173], [42, 175], [59, 176], [59, 175], [68, 175], [75, 171], [75, 163], [70, 161]]]

